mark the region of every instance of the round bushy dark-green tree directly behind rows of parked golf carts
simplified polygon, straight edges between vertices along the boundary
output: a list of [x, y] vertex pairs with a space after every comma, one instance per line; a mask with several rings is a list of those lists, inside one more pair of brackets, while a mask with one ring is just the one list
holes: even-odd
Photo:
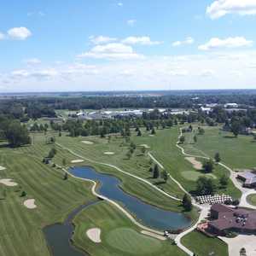
[[196, 181], [197, 195], [212, 195], [217, 189], [217, 183], [211, 177], [201, 176]]

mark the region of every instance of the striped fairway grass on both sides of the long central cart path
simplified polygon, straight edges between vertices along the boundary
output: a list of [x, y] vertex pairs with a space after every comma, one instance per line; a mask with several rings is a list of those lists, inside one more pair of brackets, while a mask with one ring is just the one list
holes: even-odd
[[[157, 184], [158, 187], [165, 190], [170, 195], [182, 198], [184, 192], [178, 188], [177, 184], [174, 183], [171, 178], [169, 178], [167, 183], [163, 183], [163, 180], [161, 178], [152, 178], [152, 173], [148, 172], [148, 170], [150, 166], [154, 166], [154, 163], [150, 164], [148, 154], [142, 154], [142, 147], [140, 145], [147, 144], [150, 147], [148, 148], [148, 151], [151, 151], [151, 148], [154, 147], [154, 143], [158, 141], [159, 138], [162, 138], [159, 137], [159, 135], [163, 132], [172, 133], [171, 130], [159, 130], [159, 134], [157, 134], [154, 137], [150, 137], [150, 134], [148, 132], [143, 131], [143, 136], [137, 137], [137, 133], [132, 132], [131, 141], [133, 143], [136, 143], [137, 149], [135, 150], [130, 160], [127, 159], [126, 157], [126, 153], [129, 150], [130, 143], [125, 143], [125, 139], [119, 136], [112, 136], [110, 142], [108, 142], [108, 138], [73, 138], [62, 136], [57, 137], [57, 142], [61, 143], [62, 146], [72, 149], [73, 152], [83, 156], [84, 158], [118, 166], [125, 172], [135, 174], [137, 175], [137, 177], [143, 177], [144, 179], [147, 179], [149, 182]], [[82, 143], [82, 141], [90, 141], [93, 142], [93, 144], [84, 144]], [[159, 145], [161, 145], [161, 143]], [[104, 154], [104, 152], [114, 152], [115, 154], [106, 155]], [[79, 157], [74, 156], [73, 159], [76, 158], [78, 159]], [[95, 167], [98, 172], [105, 172], [113, 174], [116, 177], [119, 177], [122, 180], [122, 188], [125, 189], [125, 191], [130, 193], [131, 195], [139, 197], [143, 201], [153, 204], [154, 206], [164, 208], [166, 210], [183, 212], [183, 207], [181, 207], [180, 201], [172, 200], [166, 195], [163, 195], [157, 190], [148, 186], [148, 184], [138, 181], [134, 177], [125, 175], [112, 167], [95, 164], [92, 163], [91, 161], [84, 161], [84, 163], [80, 165], [90, 165]], [[167, 169], [167, 171], [169, 170]], [[197, 218], [198, 216], [196, 211], [186, 212], [186, 214], [188, 214], [189, 218], [192, 218], [192, 220], [195, 220], [195, 218]]]

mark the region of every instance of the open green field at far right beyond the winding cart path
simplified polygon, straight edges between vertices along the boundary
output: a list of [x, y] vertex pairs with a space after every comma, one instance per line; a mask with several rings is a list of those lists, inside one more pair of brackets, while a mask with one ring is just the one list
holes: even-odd
[[[185, 133], [184, 143], [186, 153], [207, 154], [214, 157], [218, 152], [222, 161], [231, 168], [246, 169], [256, 166], [256, 143], [252, 136], [239, 135], [234, 137], [231, 132], [221, 131], [220, 126], [202, 126], [204, 135], [197, 136], [197, 143], [193, 142], [195, 133]], [[194, 125], [195, 131], [197, 125]]]

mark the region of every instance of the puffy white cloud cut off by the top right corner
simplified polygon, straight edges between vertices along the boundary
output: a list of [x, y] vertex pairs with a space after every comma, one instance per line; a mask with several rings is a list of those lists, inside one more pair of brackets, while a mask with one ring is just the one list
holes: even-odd
[[207, 7], [211, 19], [228, 14], [256, 15], [256, 0], [217, 0]]

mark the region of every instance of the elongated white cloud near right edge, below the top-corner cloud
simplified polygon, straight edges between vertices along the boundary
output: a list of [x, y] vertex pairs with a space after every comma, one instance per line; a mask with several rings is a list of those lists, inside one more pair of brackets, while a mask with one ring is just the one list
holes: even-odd
[[253, 41], [247, 40], [243, 37], [236, 38], [211, 38], [206, 44], [201, 44], [198, 49], [210, 50], [210, 49], [227, 49], [227, 48], [239, 48], [252, 46]]

